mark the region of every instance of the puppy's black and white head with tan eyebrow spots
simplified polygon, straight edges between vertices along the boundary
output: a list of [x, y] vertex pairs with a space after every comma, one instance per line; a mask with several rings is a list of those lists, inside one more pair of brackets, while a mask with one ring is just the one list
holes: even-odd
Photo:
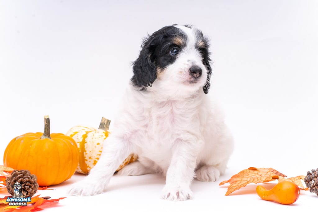
[[153, 83], [178, 92], [210, 88], [209, 43], [191, 26], [165, 26], [144, 39], [133, 65], [132, 83], [147, 89]]

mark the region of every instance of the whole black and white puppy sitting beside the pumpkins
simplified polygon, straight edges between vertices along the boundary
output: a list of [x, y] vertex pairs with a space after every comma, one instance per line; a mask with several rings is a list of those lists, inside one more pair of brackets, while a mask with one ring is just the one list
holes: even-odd
[[210, 88], [209, 43], [192, 26], [171, 25], [145, 39], [133, 65], [125, 104], [90, 174], [71, 195], [96, 195], [132, 152], [138, 161], [119, 175], [162, 173], [162, 198], [192, 198], [190, 184], [217, 181], [233, 151], [233, 139]]

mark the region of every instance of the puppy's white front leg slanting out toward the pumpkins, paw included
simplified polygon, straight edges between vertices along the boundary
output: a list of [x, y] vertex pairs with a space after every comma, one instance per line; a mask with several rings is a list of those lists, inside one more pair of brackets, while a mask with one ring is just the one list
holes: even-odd
[[131, 152], [132, 147], [128, 140], [111, 134], [103, 144], [103, 152], [97, 164], [84, 180], [72, 184], [68, 193], [75, 196], [102, 193], [115, 170]]

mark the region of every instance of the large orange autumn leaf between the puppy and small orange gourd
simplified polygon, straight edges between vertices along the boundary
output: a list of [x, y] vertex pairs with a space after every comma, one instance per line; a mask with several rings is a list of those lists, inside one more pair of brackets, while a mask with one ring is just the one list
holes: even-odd
[[225, 194], [225, 196], [227, 196], [232, 192], [245, 187], [249, 183], [256, 184], [261, 182], [269, 182], [277, 179], [278, 176], [286, 177], [285, 174], [282, 174], [273, 168], [250, 167], [240, 171], [238, 174], [234, 174], [229, 180], [222, 181], [219, 186], [224, 185], [225, 183], [230, 183]]

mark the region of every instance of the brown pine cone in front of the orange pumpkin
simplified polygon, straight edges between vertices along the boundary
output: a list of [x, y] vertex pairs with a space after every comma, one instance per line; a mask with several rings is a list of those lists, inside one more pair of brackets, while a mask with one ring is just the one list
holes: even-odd
[[14, 195], [14, 184], [19, 182], [22, 186], [22, 194], [24, 197], [31, 197], [37, 192], [39, 185], [38, 178], [31, 174], [29, 170], [14, 170], [9, 177], [5, 179], [8, 192]]

